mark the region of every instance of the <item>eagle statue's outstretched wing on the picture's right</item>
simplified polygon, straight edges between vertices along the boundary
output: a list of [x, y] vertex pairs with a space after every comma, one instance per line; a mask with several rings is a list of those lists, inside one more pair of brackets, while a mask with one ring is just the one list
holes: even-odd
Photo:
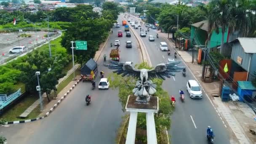
[[180, 72], [181, 69], [185, 67], [176, 66], [180, 64], [181, 61], [172, 62], [170, 64], [157, 64], [157, 66], [148, 71], [149, 78], [161, 78], [165, 80], [165, 77], [170, 78], [171, 76], [175, 76], [174, 72]]

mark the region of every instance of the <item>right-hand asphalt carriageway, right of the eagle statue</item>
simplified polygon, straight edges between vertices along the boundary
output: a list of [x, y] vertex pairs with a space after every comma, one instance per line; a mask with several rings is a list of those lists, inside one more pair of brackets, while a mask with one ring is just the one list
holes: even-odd
[[[127, 19], [127, 18], [126, 18]], [[129, 19], [134, 19], [130, 16]], [[127, 19], [128, 20], [128, 19]], [[131, 25], [130, 25], [131, 27]], [[143, 25], [142, 28], [147, 28]], [[140, 29], [136, 29], [140, 34]], [[160, 51], [160, 42], [165, 42], [164, 37], [155, 38], [155, 41], [149, 42], [149, 35], [156, 36], [156, 30], [149, 29], [147, 37], [141, 37], [146, 49], [152, 66], [160, 63], [167, 63], [168, 58], [174, 58], [174, 49], [168, 45], [171, 50], [171, 55], [168, 56], [167, 51]], [[166, 42], [167, 43], [167, 42]], [[168, 44], [168, 43], [167, 43]], [[181, 60], [178, 56], [176, 61]], [[184, 62], [179, 64], [186, 66]], [[192, 73], [187, 69], [187, 77], [183, 77], [182, 72], [176, 73], [175, 77], [167, 79], [163, 83], [163, 88], [176, 98], [176, 106], [173, 114], [171, 115], [171, 129], [168, 133], [171, 135], [172, 144], [205, 144], [208, 143], [205, 138], [206, 128], [211, 125], [215, 133], [216, 144], [229, 144], [229, 134], [227, 128], [224, 127], [221, 119], [215, 112], [209, 99], [203, 93], [203, 99], [190, 99], [186, 91], [186, 83], [188, 80], [195, 80]], [[185, 93], [185, 102], [182, 103], [179, 99], [179, 89], [183, 89]], [[194, 124], [195, 123], [195, 124]]]

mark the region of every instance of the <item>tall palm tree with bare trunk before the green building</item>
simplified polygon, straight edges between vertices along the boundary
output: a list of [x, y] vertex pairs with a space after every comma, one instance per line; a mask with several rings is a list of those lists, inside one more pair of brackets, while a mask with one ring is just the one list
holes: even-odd
[[235, 18], [233, 16], [233, 11], [235, 7], [235, 0], [212, 0], [209, 3], [209, 28], [211, 30], [214, 29], [216, 33], [219, 33], [219, 27], [221, 27], [221, 54], [223, 53], [225, 32], [229, 27], [235, 27]]

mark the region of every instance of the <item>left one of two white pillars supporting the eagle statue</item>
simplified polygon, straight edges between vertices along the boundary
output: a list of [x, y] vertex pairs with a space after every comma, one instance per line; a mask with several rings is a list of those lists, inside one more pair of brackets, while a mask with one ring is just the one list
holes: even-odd
[[[130, 112], [128, 132], [127, 132], [125, 144], [134, 144], [135, 143], [137, 116], [138, 116], [138, 112]], [[155, 124], [155, 121], [154, 121], [154, 124]], [[155, 125], [154, 125], [154, 127], [155, 127]]]

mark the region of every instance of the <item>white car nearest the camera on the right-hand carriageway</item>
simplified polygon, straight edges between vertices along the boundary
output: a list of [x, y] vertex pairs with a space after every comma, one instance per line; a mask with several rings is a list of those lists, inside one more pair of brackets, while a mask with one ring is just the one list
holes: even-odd
[[196, 99], [203, 98], [202, 90], [196, 80], [189, 80], [187, 82], [187, 91], [191, 98], [196, 98]]

